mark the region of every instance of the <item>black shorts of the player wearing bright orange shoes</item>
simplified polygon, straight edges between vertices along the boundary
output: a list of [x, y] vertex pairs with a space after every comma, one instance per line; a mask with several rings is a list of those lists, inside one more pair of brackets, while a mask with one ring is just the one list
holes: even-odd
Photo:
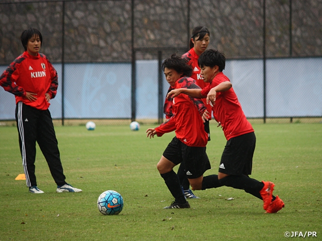
[[251, 175], [255, 146], [254, 132], [229, 139], [221, 156], [219, 172], [228, 175]]

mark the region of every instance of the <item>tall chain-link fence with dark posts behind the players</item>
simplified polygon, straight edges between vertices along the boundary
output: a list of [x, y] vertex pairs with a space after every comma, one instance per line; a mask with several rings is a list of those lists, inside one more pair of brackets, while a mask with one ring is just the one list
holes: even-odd
[[[23, 52], [20, 34], [43, 35], [59, 76], [58, 125], [162, 122], [163, 59], [183, 54], [194, 27], [227, 58], [245, 114], [264, 122], [322, 120], [322, 0], [2, 1], [0, 72]], [[0, 120], [15, 98], [0, 88]]]

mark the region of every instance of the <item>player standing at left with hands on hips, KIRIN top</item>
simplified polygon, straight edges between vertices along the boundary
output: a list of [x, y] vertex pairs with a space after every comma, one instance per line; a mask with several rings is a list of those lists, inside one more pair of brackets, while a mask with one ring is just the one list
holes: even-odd
[[0, 85], [16, 97], [16, 122], [26, 183], [31, 193], [44, 193], [35, 175], [36, 142], [42, 151], [57, 189], [56, 192], [82, 192], [65, 182], [58, 142], [48, 107], [57, 93], [57, 72], [40, 54], [42, 35], [37, 29], [21, 34], [25, 52], [0, 76]]

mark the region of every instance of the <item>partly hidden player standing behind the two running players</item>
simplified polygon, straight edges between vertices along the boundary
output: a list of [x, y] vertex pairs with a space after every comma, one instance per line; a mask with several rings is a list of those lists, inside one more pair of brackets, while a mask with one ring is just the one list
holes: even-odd
[[[190, 50], [183, 54], [183, 57], [186, 58], [188, 60], [188, 64], [191, 65], [192, 67], [192, 74], [191, 74], [191, 78], [193, 78], [194, 80], [196, 80], [196, 83], [199, 87], [204, 88], [207, 85], [209, 85], [209, 83], [206, 83], [203, 81], [203, 78], [200, 74], [200, 68], [198, 65], [198, 59], [199, 56], [207, 49], [208, 45], [209, 45], [209, 41], [210, 41], [210, 32], [209, 30], [204, 27], [204, 26], [198, 26], [195, 27], [192, 30], [192, 35], [189, 41], [189, 47]], [[168, 93], [174, 89], [174, 86], [170, 85]], [[211, 113], [211, 106], [209, 104], [206, 104], [206, 99], [203, 99], [203, 102], [205, 104], [205, 106], [207, 107], [207, 110], [209, 113]], [[165, 100], [165, 104], [164, 104], [164, 113], [166, 114], [166, 119], [168, 120], [171, 116], [172, 116], [172, 99], [169, 98]], [[208, 141], [210, 141], [210, 128], [209, 128], [209, 121], [211, 119], [211, 115], [209, 117], [209, 119], [207, 119], [204, 122], [204, 127], [205, 127], [205, 131], [208, 133]], [[185, 194], [186, 198], [199, 198], [196, 195], [193, 194], [193, 192], [189, 189], [189, 181], [186, 177], [185, 174], [185, 168], [184, 165], [180, 165], [179, 170], [178, 170], [178, 176], [180, 179], [180, 183], [183, 189], [183, 192]]]

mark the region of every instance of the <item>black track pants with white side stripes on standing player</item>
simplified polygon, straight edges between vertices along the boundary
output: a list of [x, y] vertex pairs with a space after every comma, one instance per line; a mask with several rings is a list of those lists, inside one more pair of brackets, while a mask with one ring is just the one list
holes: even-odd
[[36, 141], [57, 185], [64, 185], [58, 142], [49, 110], [39, 110], [22, 102], [16, 106], [16, 122], [22, 164], [28, 187], [37, 186], [35, 176]]

